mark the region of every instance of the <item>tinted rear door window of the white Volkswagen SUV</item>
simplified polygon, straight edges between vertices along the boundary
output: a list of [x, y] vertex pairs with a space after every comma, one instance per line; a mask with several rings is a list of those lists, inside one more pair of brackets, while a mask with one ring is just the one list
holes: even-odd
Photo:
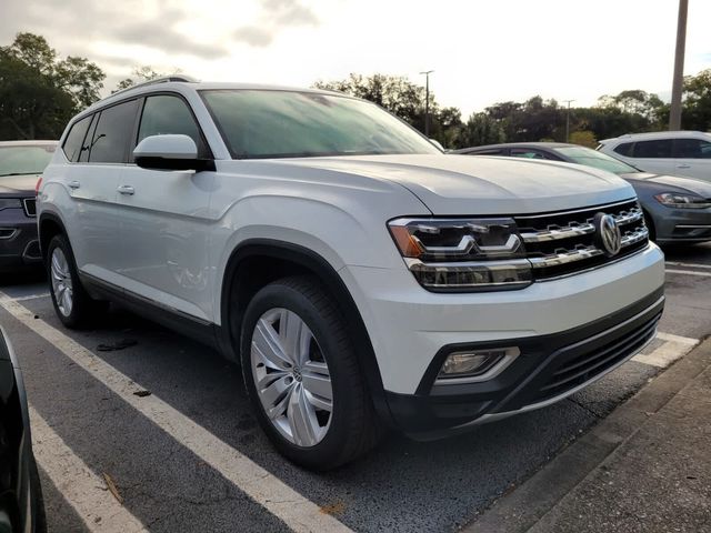
[[136, 122], [137, 105], [138, 102], [132, 100], [101, 111], [91, 140], [90, 162], [122, 163], [126, 161], [129, 139]]

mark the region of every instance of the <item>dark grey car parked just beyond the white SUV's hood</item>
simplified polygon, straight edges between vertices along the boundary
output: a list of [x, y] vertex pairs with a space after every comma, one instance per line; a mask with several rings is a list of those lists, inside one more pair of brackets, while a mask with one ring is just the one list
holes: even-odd
[[559, 142], [490, 144], [450, 153], [543, 159], [614, 172], [634, 188], [654, 241], [711, 241], [711, 183], [708, 181], [642, 172], [595, 150]]

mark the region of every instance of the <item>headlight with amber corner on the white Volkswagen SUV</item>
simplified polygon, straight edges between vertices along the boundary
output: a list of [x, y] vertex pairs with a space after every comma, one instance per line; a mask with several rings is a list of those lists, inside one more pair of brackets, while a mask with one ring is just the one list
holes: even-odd
[[497, 291], [532, 282], [513, 219], [397, 219], [398, 250], [430, 291]]

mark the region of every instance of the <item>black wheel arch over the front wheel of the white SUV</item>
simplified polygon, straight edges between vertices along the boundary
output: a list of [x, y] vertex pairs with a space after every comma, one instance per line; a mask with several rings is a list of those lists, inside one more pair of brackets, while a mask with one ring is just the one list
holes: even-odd
[[336, 269], [312, 250], [271, 239], [250, 239], [231, 253], [224, 270], [220, 298], [221, 328], [218, 343], [221, 351], [228, 359], [240, 361], [241, 325], [249, 301], [267, 283], [293, 274], [314, 275], [333, 296], [346, 321], [348, 334], [354, 343], [359, 366], [375, 410], [380, 418], [388, 422], [391, 419], [382, 378], [360, 311]]

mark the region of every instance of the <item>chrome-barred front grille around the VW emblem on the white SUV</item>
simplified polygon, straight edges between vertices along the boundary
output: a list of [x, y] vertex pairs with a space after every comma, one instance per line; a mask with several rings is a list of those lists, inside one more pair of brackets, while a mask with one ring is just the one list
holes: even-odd
[[[605, 255], [595, 244], [593, 220], [598, 213], [611, 214], [620, 228], [622, 248], [614, 257]], [[643, 249], [649, 241], [644, 215], [637, 200], [514, 219], [535, 280], [604, 265]]]

